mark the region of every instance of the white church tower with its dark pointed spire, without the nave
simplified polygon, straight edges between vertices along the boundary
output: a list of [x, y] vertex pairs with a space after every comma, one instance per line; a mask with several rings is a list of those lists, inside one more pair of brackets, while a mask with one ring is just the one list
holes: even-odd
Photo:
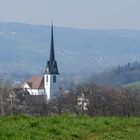
[[55, 60], [54, 52], [54, 38], [53, 38], [53, 25], [51, 26], [51, 45], [50, 45], [50, 58], [47, 61], [47, 66], [44, 74], [44, 88], [47, 95], [47, 100], [52, 99], [58, 94], [58, 67]]

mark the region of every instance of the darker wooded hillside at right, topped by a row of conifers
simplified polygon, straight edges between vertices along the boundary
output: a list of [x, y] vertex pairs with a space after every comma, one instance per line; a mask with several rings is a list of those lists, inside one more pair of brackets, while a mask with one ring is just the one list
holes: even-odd
[[119, 65], [110, 71], [94, 74], [90, 80], [99, 85], [138, 87], [140, 85], [140, 62]]

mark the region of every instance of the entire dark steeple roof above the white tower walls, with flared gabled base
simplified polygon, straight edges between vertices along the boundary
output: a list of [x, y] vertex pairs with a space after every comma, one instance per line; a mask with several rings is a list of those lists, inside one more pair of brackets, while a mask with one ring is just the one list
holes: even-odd
[[45, 69], [45, 74], [59, 74], [57, 61], [55, 60], [54, 52], [54, 37], [53, 37], [53, 25], [51, 27], [51, 47], [50, 47], [50, 58], [47, 61], [47, 66]]

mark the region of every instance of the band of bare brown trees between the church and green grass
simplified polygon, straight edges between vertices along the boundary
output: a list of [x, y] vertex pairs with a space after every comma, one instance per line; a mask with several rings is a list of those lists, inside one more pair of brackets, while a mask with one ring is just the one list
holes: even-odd
[[90, 116], [140, 116], [140, 88], [112, 88], [93, 83], [76, 86], [69, 93], [59, 90], [47, 102], [45, 96], [31, 96], [22, 89], [0, 83], [0, 115], [35, 116], [63, 113]]

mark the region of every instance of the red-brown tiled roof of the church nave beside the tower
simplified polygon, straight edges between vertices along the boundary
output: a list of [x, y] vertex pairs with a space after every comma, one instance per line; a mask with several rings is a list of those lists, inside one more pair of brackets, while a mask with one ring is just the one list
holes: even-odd
[[31, 89], [43, 89], [44, 88], [44, 78], [43, 76], [33, 76], [26, 81]]

